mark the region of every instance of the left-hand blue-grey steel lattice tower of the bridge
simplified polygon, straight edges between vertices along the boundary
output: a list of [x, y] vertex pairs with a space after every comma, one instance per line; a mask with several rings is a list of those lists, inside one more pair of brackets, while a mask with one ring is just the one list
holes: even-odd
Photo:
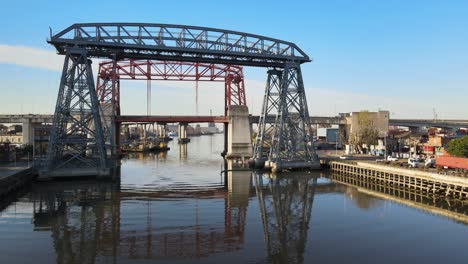
[[66, 176], [72, 170], [89, 175], [108, 173], [100, 112], [91, 60], [86, 50], [70, 49], [65, 55], [42, 177]]

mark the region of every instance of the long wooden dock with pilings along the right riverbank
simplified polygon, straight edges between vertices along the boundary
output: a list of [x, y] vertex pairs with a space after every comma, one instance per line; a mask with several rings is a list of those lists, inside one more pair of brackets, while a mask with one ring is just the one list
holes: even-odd
[[380, 185], [416, 190], [437, 196], [448, 196], [459, 199], [468, 198], [468, 178], [441, 175], [437, 173], [393, 168], [369, 162], [329, 163], [332, 172], [351, 175], [357, 180], [376, 182]]

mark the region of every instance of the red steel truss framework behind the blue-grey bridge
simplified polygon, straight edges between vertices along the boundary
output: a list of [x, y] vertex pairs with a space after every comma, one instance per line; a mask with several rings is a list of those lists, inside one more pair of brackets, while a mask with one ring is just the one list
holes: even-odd
[[231, 105], [246, 105], [242, 67], [235, 65], [132, 59], [101, 62], [96, 92], [101, 103], [114, 100], [116, 115], [120, 115], [120, 80], [224, 81], [225, 115]]

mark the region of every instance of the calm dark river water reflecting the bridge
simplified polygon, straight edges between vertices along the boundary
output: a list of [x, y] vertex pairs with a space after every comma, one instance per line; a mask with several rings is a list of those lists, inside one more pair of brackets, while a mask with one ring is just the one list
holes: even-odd
[[[0, 202], [0, 263], [467, 263], [468, 203], [226, 164], [223, 136], [122, 159], [120, 181]], [[221, 173], [224, 171], [223, 173]]]

